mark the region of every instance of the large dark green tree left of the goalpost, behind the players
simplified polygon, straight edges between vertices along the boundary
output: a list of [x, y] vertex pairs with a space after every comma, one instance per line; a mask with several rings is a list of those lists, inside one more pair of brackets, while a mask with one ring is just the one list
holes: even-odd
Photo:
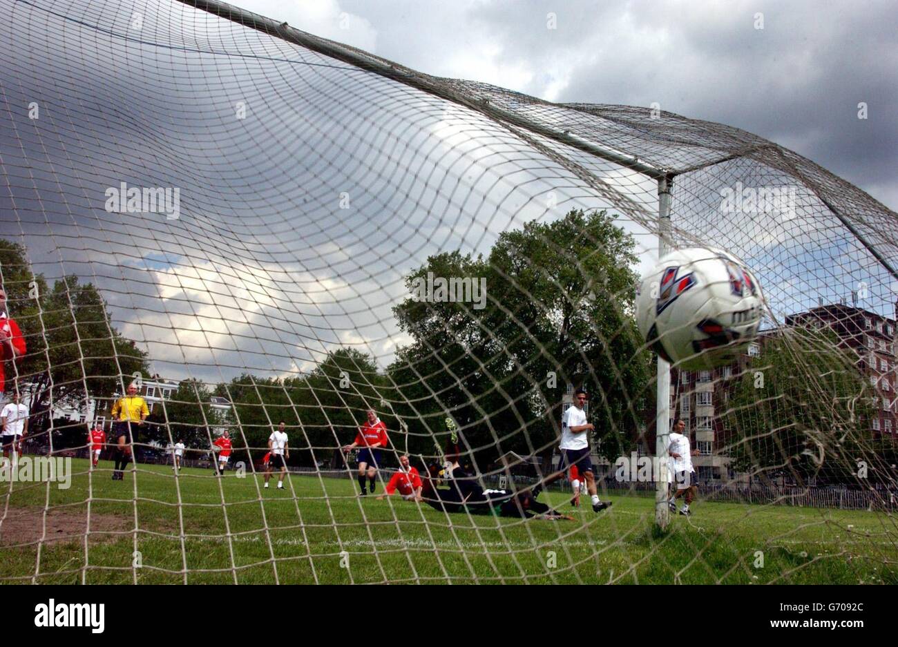
[[414, 340], [388, 372], [409, 436], [427, 450], [450, 415], [481, 468], [509, 450], [545, 461], [572, 383], [592, 393], [601, 450], [629, 446], [650, 366], [632, 317], [633, 249], [605, 212], [571, 211], [502, 233], [486, 259], [457, 251], [427, 258], [407, 277], [409, 292], [428, 276], [474, 277], [485, 279], [488, 300], [480, 308], [416, 295], [394, 308]]

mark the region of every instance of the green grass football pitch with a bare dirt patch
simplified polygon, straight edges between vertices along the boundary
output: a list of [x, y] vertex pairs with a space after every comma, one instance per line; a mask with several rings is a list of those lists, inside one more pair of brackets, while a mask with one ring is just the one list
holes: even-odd
[[66, 490], [2, 484], [0, 581], [898, 582], [898, 532], [881, 512], [699, 502], [658, 534], [654, 501], [638, 495], [612, 496], [599, 515], [562, 505], [576, 521], [449, 519], [396, 497], [359, 499], [348, 477], [294, 476], [278, 491], [274, 481], [261, 489], [260, 475], [184, 469], [175, 479], [144, 465], [135, 504], [134, 475], [112, 481], [111, 467], [101, 461]]

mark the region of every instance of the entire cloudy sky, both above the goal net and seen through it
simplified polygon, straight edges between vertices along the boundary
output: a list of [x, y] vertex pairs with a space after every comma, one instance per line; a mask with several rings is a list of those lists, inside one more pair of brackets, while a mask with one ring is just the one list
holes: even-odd
[[[740, 127], [898, 205], [886, 4], [239, 4], [428, 74]], [[653, 183], [632, 171], [579, 159], [596, 163], [600, 195], [480, 114], [183, 4], [7, 8], [0, 235], [49, 278], [100, 286], [113, 323], [172, 378], [290, 375], [339, 345], [386, 365], [409, 340], [392, 306], [428, 255], [489, 253], [501, 232], [571, 206], [620, 211], [614, 192], [656, 209]], [[121, 182], [179, 188], [180, 218], [110, 212], [105, 192]], [[562, 202], [548, 205], [556, 188]], [[829, 222], [812, 233], [742, 221], [730, 230], [762, 248], [780, 305], [870, 282], [869, 259]], [[655, 237], [622, 224], [650, 264]], [[826, 271], [806, 271], [821, 260]]]

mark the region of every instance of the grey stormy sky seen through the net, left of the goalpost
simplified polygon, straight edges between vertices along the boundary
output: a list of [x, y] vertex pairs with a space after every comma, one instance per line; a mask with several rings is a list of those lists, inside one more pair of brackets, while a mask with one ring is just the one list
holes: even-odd
[[[14, 4], [2, 235], [97, 284], [166, 376], [291, 374], [339, 345], [389, 362], [410, 269], [540, 213], [435, 97], [178, 3]], [[121, 182], [178, 188], [180, 218], [108, 211]]]

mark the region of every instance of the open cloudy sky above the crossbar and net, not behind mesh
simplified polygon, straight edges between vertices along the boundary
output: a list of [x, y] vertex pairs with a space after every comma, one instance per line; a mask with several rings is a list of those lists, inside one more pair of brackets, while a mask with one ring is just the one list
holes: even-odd
[[[548, 101], [657, 102], [684, 117], [743, 128], [898, 207], [894, 3], [233, 4], [427, 74], [493, 83]], [[858, 118], [861, 102], [866, 119]]]

